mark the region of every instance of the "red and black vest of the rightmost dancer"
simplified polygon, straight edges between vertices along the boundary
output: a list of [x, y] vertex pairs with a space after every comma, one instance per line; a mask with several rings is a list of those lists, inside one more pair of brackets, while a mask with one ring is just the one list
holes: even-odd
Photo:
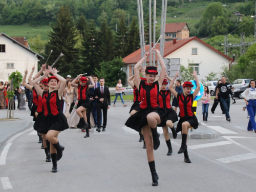
[[195, 116], [192, 110], [192, 105], [194, 100], [193, 94], [184, 96], [183, 94], [178, 93], [177, 100], [179, 102], [179, 107], [180, 107], [179, 117]]

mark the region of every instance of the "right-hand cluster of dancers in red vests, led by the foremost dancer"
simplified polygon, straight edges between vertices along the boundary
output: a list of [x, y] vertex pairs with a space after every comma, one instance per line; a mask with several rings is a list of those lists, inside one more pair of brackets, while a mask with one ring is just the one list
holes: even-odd
[[[159, 77], [157, 67], [148, 66], [145, 68], [145, 78], [140, 77], [140, 66], [143, 61], [150, 56], [150, 53], [146, 53], [144, 57], [134, 66], [134, 76], [128, 79], [131, 86], [134, 87], [134, 104], [132, 105], [130, 114], [131, 116], [125, 122], [125, 125], [138, 131], [142, 136], [145, 144], [143, 148], [146, 148], [148, 165], [150, 166], [152, 175], [152, 185], [158, 185], [158, 174], [155, 167], [154, 150], [160, 145], [159, 136], [157, 132], [157, 126], [163, 127], [164, 138], [168, 147], [167, 155], [172, 155], [172, 145], [168, 135], [168, 127], [172, 130], [174, 139], [177, 137], [177, 133], [181, 132], [182, 142], [178, 154], [184, 154], [184, 161], [191, 163], [187, 152], [187, 134], [188, 129], [193, 127], [197, 129], [198, 120], [195, 116], [192, 105], [194, 97], [200, 90], [200, 82], [197, 77], [197, 72], [194, 71], [193, 75], [196, 80], [197, 88], [193, 94], [191, 88], [193, 84], [190, 81], [183, 83], [183, 92], [177, 93], [173, 88], [174, 82], [178, 77], [176, 73], [174, 79], [170, 79], [166, 75], [164, 61], [161, 57], [159, 50], [155, 50], [156, 55], [160, 61], [161, 71]], [[167, 87], [167, 79], [170, 80], [170, 84]], [[174, 126], [174, 122], [178, 121], [177, 113], [172, 109], [170, 105], [171, 93], [177, 98], [180, 113], [179, 122], [177, 128]], [[140, 139], [141, 140], [141, 139]]]

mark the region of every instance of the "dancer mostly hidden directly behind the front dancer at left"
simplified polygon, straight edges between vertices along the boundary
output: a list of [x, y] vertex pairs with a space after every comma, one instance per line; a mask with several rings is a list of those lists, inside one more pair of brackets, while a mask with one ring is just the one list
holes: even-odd
[[[48, 78], [42, 79], [41, 83], [42, 83], [42, 90], [44, 90], [45, 92], [48, 92], [49, 90]], [[50, 142], [46, 139], [46, 134], [40, 132], [41, 126], [45, 120], [44, 106], [42, 104], [42, 97], [40, 95], [38, 96], [38, 105], [37, 105], [37, 110], [35, 112], [35, 116], [36, 116], [36, 120], [34, 123], [34, 130], [36, 130], [41, 134], [42, 145], [46, 153], [46, 162], [51, 162]]]

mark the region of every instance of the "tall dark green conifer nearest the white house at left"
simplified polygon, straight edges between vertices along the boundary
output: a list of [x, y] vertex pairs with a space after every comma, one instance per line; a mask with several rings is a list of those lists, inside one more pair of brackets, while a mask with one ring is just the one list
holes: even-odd
[[60, 74], [76, 76], [78, 73], [82, 73], [82, 66], [78, 65], [79, 51], [75, 48], [78, 32], [68, 6], [60, 8], [57, 20], [51, 27], [52, 31], [48, 33], [50, 41], [46, 45], [45, 57], [48, 57], [51, 50], [53, 52], [48, 63], [53, 63], [58, 55], [63, 53], [64, 56], [54, 66], [57, 67]]

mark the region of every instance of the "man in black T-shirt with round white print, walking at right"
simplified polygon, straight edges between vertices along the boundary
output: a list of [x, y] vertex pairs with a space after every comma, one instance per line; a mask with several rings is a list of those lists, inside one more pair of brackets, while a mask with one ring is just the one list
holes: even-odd
[[[224, 106], [224, 110], [226, 113], [226, 120], [231, 121], [229, 116], [229, 108], [230, 108], [230, 97], [229, 93], [233, 89], [232, 85], [229, 82], [226, 82], [226, 77], [221, 77], [221, 83], [217, 87], [215, 98], [218, 99], [220, 97], [221, 103]], [[220, 92], [220, 95], [219, 95]]]

